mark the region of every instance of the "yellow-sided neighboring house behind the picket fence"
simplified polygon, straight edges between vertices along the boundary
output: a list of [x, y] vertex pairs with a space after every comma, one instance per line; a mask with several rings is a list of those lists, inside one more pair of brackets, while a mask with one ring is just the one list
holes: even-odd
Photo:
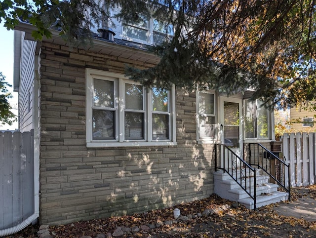
[[290, 121], [301, 121], [290, 123], [291, 132], [316, 132], [315, 118], [316, 111], [298, 110], [297, 108], [290, 109]]

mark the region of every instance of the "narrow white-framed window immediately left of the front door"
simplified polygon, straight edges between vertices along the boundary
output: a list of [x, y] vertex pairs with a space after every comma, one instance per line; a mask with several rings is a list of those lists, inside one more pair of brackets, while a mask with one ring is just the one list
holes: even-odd
[[198, 92], [197, 98], [198, 139], [217, 140], [215, 93]]

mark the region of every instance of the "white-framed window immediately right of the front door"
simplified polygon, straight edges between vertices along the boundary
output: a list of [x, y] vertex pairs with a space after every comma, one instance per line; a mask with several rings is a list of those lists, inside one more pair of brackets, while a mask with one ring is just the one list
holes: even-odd
[[244, 100], [246, 139], [270, 138], [270, 110], [260, 100]]

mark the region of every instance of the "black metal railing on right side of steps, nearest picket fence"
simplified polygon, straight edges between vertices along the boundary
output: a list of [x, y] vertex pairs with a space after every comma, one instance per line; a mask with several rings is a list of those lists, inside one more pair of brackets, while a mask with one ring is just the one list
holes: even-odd
[[249, 143], [249, 164], [261, 168], [288, 193], [288, 200], [291, 200], [290, 164], [259, 143]]

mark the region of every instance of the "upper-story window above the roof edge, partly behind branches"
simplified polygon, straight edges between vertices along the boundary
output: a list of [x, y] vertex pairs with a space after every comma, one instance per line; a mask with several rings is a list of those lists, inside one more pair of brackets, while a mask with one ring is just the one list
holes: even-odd
[[135, 23], [123, 23], [122, 38], [139, 43], [159, 44], [165, 38], [173, 37], [173, 25], [139, 15]]

